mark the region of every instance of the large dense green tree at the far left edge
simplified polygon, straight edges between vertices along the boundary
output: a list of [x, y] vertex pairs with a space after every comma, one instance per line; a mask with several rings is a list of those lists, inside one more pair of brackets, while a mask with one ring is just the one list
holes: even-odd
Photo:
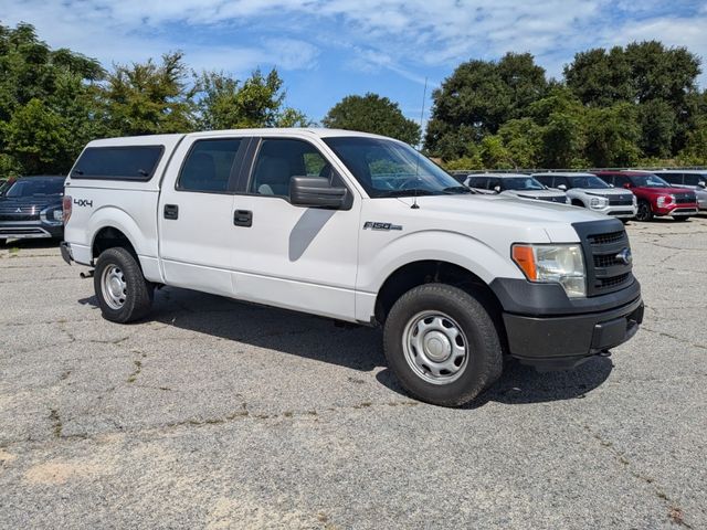
[[86, 141], [102, 135], [104, 75], [95, 60], [50, 49], [30, 24], [0, 25], [0, 171], [67, 171]]

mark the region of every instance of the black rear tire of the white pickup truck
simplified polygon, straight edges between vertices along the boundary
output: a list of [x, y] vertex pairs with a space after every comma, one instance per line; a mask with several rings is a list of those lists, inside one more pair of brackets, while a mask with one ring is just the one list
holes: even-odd
[[[104, 274], [118, 271], [124, 278], [124, 301], [119, 307], [110, 301], [110, 296], [104, 293]], [[98, 299], [101, 312], [106, 320], [126, 324], [146, 316], [152, 305], [155, 286], [145, 279], [143, 269], [137, 258], [126, 248], [113, 247], [104, 251], [98, 256], [94, 271], [93, 286]]]

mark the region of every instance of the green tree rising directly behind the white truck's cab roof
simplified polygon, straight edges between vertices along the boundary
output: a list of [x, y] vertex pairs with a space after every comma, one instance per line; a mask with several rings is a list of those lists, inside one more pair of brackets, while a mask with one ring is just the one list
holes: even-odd
[[249, 127], [308, 127], [310, 120], [285, 106], [283, 80], [275, 68], [260, 70], [240, 82], [222, 72], [203, 72], [197, 78], [198, 125], [201, 129]]

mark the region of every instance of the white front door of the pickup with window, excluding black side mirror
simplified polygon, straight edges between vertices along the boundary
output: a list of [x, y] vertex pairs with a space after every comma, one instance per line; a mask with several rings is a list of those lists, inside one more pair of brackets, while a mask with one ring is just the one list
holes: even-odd
[[344, 210], [289, 203], [294, 176], [326, 177], [346, 187], [339, 162], [324, 150], [308, 139], [258, 141], [234, 201], [236, 215], [249, 220], [232, 236], [235, 296], [354, 319], [360, 197], [349, 188], [351, 203]]

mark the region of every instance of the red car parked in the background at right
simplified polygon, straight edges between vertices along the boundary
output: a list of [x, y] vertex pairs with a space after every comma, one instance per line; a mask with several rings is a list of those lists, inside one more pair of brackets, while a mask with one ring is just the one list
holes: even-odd
[[625, 188], [636, 195], [636, 221], [651, 221], [663, 215], [686, 221], [699, 211], [694, 190], [673, 187], [657, 174], [647, 171], [597, 171], [595, 174], [608, 184]]

